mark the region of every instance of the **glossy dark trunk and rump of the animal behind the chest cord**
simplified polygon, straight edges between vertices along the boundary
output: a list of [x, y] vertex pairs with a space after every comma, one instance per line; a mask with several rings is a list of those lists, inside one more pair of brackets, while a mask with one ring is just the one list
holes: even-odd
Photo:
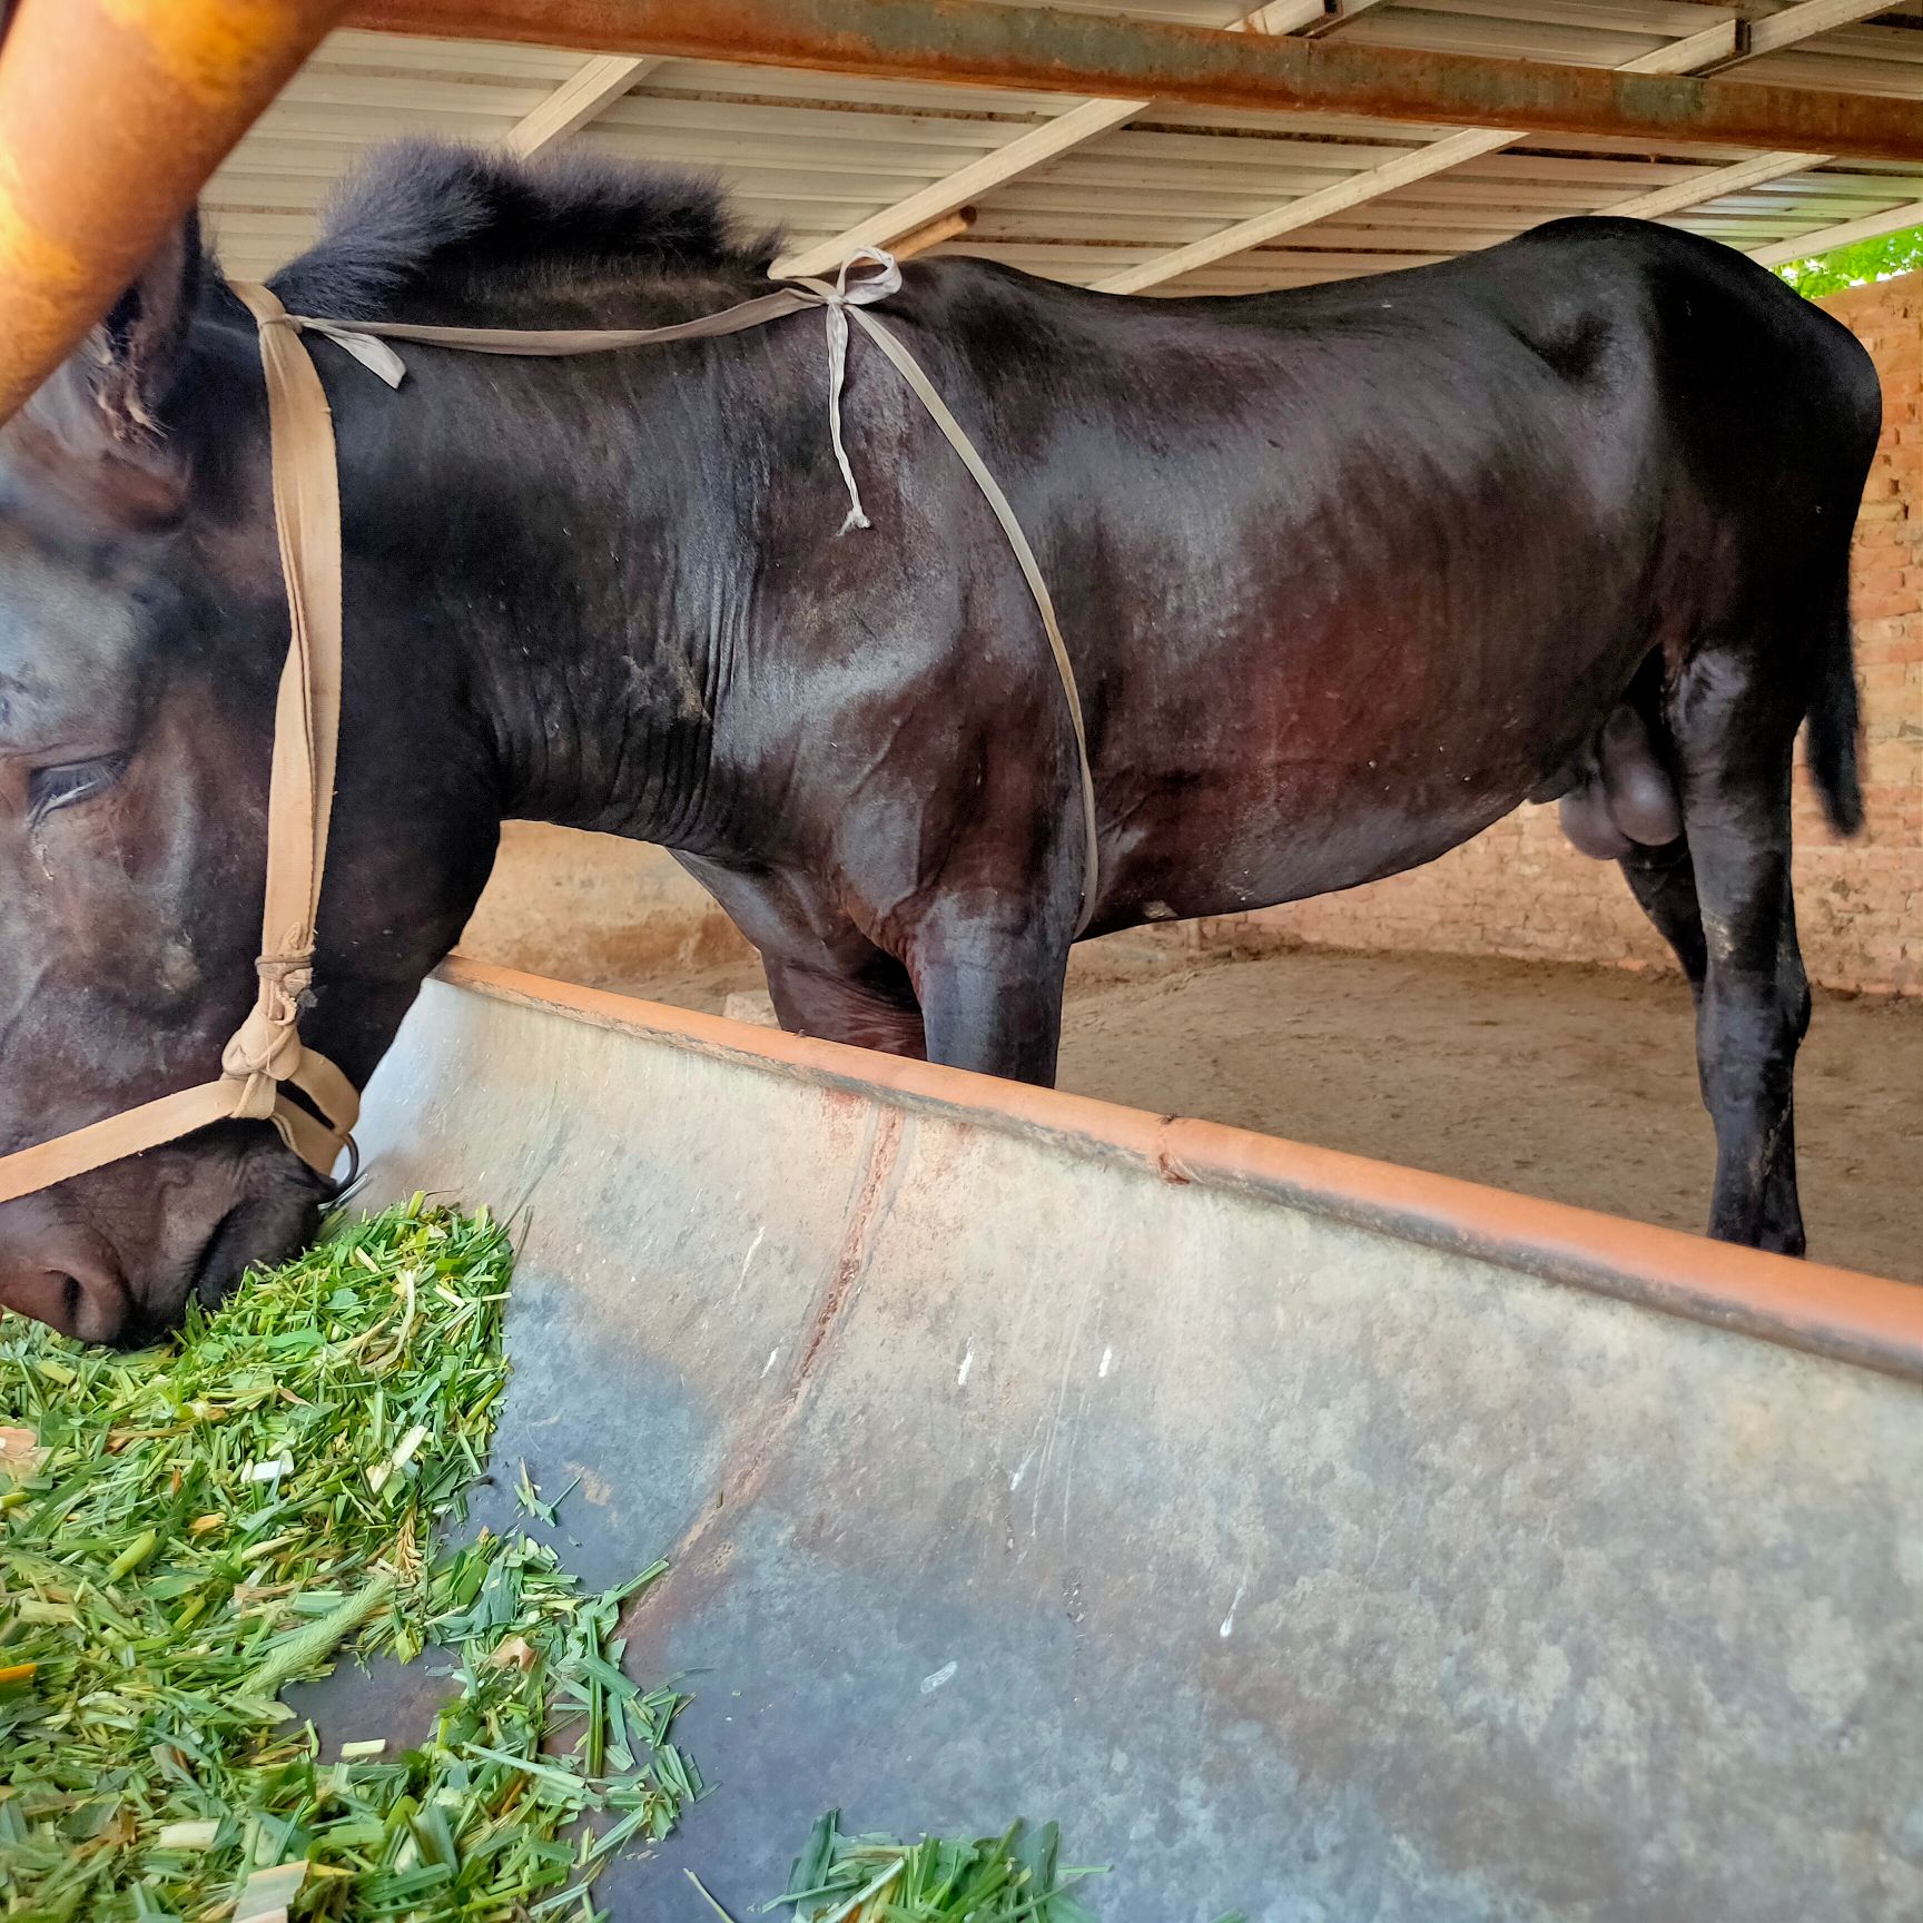
[[1186, 896], [1117, 875], [1181, 912], [1413, 865], [1552, 783], [1652, 652], [1838, 571], [1877, 431], [1844, 329], [1642, 221], [1235, 298], [952, 262], [912, 304], [979, 383], [1108, 794], [1215, 850]]

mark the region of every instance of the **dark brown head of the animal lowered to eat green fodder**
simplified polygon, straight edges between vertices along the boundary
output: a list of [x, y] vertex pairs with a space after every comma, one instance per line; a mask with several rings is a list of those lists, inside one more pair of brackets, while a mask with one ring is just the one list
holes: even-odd
[[[367, 544], [363, 544], [367, 546]], [[302, 1033], [365, 1081], [494, 844], [406, 544], [348, 571], [340, 788]], [[254, 998], [287, 604], [254, 329], [187, 223], [0, 433], [0, 1152], [219, 1073]], [[313, 1229], [223, 1123], [0, 1204], [0, 1306], [138, 1340]]]

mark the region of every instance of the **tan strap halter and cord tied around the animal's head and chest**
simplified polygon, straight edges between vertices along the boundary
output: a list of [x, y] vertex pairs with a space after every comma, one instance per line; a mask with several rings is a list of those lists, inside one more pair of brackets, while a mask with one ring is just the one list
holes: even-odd
[[[850, 267], [877, 271], [850, 281]], [[848, 315], [881, 348], [929, 417], [962, 458], [994, 512], [1023, 581], [1035, 596], [1048, 650], [1061, 681], [1081, 775], [1083, 896], [1075, 933], [1088, 927], [1100, 883], [1094, 773], [1083, 723], [1075, 665], [1061, 638], [1054, 600], [1035, 548], [1015, 510], [996, 485], [981, 452], [950, 413], [935, 383], [904, 342], [862, 310], [902, 285], [900, 267], [875, 248], [863, 248], [829, 281], [798, 281], [760, 294], [721, 313], [671, 327], [627, 329], [494, 329], [425, 327], [402, 321], [325, 321], [288, 313], [265, 287], [237, 281], [235, 294], [260, 327], [260, 356], [267, 377], [267, 425], [273, 467], [273, 521], [287, 581], [288, 648], [275, 702], [273, 775], [267, 796], [267, 883], [262, 912], [260, 977], [252, 1011], [221, 1052], [219, 1081], [142, 1102], [106, 1121], [88, 1123], [50, 1142], [0, 1156], [0, 1202], [52, 1188], [88, 1169], [144, 1154], [215, 1121], [269, 1121], [281, 1140], [317, 1175], [352, 1152], [360, 1115], [354, 1085], [300, 1040], [300, 1004], [313, 981], [315, 919], [327, 869], [327, 829], [335, 798], [335, 756], [340, 737], [340, 469], [327, 390], [300, 335], [317, 333], [346, 348], [390, 387], [406, 367], [385, 340], [458, 348], [469, 354], [571, 356], [613, 354], [671, 340], [713, 340], [763, 327], [788, 313], [821, 308], [829, 329], [829, 435], [848, 487], [842, 529], [867, 527], [848, 450], [842, 444], [840, 398], [848, 365]], [[300, 1088], [319, 1110], [312, 1115], [285, 1092]], [[321, 1119], [325, 1117], [325, 1119]]]

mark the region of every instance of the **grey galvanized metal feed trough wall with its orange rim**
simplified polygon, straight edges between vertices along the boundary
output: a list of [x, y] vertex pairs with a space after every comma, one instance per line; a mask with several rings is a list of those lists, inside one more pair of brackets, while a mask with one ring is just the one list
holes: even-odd
[[719, 1786], [617, 1917], [829, 1804], [1060, 1815], [1108, 1923], [1923, 1911], [1923, 1292], [465, 979], [373, 1183], [527, 1211], [496, 1465], [675, 1560]]

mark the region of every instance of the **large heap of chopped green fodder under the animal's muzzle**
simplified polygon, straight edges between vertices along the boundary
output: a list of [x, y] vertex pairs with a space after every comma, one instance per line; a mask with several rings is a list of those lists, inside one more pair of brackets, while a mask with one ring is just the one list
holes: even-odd
[[[621, 1673], [662, 1565], [583, 1596], [529, 1536], [435, 1546], [487, 1461], [510, 1271], [485, 1211], [415, 1196], [160, 1350], [0, 1323], [0, 1915], [587, 1917], [700, 1794], [681, 1698]], [[417, 1750], [323, 1761], [277, 1700], [429, 1642], [460, 1660]]]

